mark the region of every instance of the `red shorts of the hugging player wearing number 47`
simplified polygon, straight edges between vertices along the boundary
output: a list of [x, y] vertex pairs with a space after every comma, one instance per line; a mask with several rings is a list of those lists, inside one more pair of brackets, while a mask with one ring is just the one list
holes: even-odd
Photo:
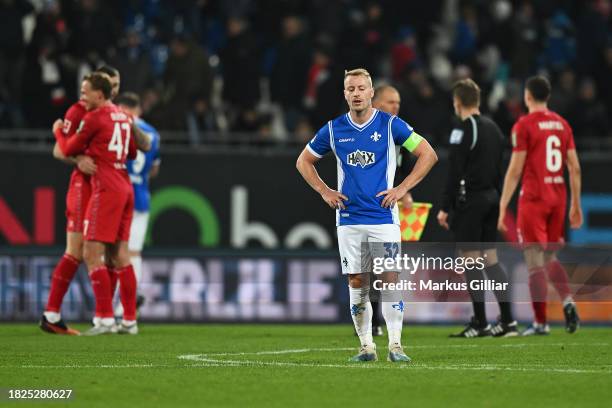
[[134, 191], [108, 191], [94, 188], [85, 213], [87, 241], [115, 243], [128, 241], [134, 212]]

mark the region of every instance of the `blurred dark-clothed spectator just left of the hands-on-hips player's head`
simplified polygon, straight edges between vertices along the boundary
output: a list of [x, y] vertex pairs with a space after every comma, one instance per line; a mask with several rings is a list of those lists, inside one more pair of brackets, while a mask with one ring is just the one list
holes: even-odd
[[302, 114], [302, 100], [306, 82], [310, 77], [311, 48], [304, 26], [296, 16], [282, 20], [282, 38], [278, 47], [276, 63], [270, 78], [272, 100], [282, 105], [285, 126], [292, 132]]

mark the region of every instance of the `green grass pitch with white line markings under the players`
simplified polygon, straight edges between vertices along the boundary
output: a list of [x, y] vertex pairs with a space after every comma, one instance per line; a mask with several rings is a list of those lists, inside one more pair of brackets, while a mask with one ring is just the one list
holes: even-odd
[[[77, 325], [85, 329], [84, 325]], [[404, 328], [410, 365], [348, 363], [350, 325], [142, 324], [138, 336], [47, 335], [0, 324], [0, 405], [48, 407], [609, 407], [612, 328], [449, 339]], [[67, 402], [7, 402], [6, 389], [72, 389]]]

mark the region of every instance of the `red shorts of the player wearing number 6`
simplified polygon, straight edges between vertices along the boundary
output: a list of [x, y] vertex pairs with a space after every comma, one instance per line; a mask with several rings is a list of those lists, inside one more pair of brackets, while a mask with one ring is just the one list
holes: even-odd
[[[565, 198], [555, 206], [542, 201], [519, 199], [517, 232], [521, 244], [538, 243], [543, 248], [565, 242]], [[551, 248], [554, 249], [554, 248]]]

